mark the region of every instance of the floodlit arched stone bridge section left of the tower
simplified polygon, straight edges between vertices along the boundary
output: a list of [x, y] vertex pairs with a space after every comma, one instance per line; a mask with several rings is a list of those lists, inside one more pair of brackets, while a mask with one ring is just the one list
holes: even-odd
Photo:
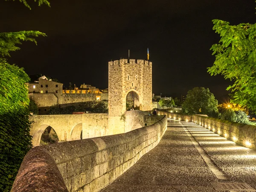
[[84, 113], [77, 115], [35, 115], [30, 118], [33, 146], [40, 145], [41, 135], [51, 126], [60, 141], [108, 135], [108, 113]]

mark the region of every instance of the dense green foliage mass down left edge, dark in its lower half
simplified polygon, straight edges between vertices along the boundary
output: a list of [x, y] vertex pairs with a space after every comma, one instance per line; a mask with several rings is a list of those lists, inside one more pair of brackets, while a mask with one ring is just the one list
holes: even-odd
[[0, 61], [0, 191], [11, 189], [23, 157], [32, 148], [27, 81], [22, 68]]

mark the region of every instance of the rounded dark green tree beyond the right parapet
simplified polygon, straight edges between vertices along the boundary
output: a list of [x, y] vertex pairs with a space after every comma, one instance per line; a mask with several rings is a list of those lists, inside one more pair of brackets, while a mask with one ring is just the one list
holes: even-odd
[[195, 87], [188, 91], [185, 101], [182, 104], [184, 113], [207, 114], [208, 116], [218, 116], [218, 101], [209, 89]]

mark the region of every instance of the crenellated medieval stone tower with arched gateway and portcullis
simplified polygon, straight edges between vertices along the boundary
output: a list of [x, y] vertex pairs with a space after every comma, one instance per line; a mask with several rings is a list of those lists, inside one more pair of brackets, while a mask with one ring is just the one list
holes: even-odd
[[[120, 59], [108, 62], [108, 128], [112, 134], [124, 133], [122, 114], [129, 105], [141, 111], [152, 110], [152, 63]], [[131, 106], [130, 106], [131, 107]]]

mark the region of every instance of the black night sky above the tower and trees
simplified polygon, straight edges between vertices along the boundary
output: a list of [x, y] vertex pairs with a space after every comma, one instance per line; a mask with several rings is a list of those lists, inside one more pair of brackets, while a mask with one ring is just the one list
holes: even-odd
[[108, 87], [108, 61], [146, 59], [153, 63], [153, 93], [186, 95], [208, 87], [219, 99], [230, 81], [210, 76], [210, 47], [219, 36], [212, 19], [255, 23], [254, 0], [50, 0], [32, 10], [19, 1], [0, 1], [0, 32], [39, 30], [38, 45], [24, 42], [9, 63], [44, 74], [64, 85]]

